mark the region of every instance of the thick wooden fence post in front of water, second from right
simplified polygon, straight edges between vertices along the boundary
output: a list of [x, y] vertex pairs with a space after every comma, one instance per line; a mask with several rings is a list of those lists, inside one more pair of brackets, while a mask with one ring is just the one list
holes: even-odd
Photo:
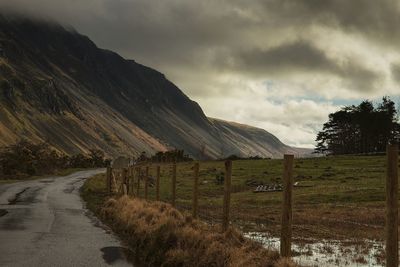
[[292, 249], [293, 161], [293, 155], [284, 155], [283, 209], [280, 249], [282, 257], [290, 257]]

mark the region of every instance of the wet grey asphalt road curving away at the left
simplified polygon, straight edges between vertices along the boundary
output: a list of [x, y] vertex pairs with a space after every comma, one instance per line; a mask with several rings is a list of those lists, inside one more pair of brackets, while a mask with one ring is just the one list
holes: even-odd
[[0, 186], [0, 266], [132, 266], [79, 196], [102, 171]]

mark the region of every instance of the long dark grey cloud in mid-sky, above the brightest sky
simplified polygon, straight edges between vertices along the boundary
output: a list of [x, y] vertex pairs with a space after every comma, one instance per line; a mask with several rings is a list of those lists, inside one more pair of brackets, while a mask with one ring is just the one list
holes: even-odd
[[381, 73], [351, 60], [339, 63], [305, 40], [284, 43], [267, 50], [233, 51], [230, 56], [222, 57], [218, 58], [215, 64], [224, 62], [225, 68], [247, 72], [249, 75], [325, 73], [342, 78], [344, 84], [360, 91], [373, 90], [381, 76]]

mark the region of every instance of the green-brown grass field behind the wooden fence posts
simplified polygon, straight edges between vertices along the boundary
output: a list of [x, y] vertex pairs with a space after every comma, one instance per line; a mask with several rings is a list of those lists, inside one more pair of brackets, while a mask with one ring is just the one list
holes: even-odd
[[[294, 238], [383, 239], [385, 201], [384, 156], [340, 156], [296, 159], [294, 180]], [[177, 167], [177, 207], [190, 211], [193, 163]], [[199, 215], [212, 223], [222, 216], [223, 185], [216, 176], [221, 161], [200, 162]], [[280, 183], [282, 160], [233, 162], [232, 223], [243, 231], [266, 231], [278, 236], [282, 192], [253, 193], [250, 184]], [[150, 168], [155, 175], [155, 166]], [[136, 184], [134, 184], [136, 187]], [[134, 190], [136, 192], [136, 188]], [[171, 167], [161, 168], [161, 200], [171, 197]], [[141, 184], [143, 196], [143, 183]], [[155, 199], [155, 188], [149, 189]]]

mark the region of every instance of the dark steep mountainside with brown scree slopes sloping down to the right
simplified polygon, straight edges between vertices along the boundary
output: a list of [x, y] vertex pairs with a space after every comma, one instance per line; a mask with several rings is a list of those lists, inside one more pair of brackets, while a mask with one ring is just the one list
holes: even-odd
[[0, 16], [0, 103], [0, 146], [25, 138], [68, 154], [309, 152], [265, 130], [207, 118], [162, 73], [100, 49], [73, 29], [16, 16]]

